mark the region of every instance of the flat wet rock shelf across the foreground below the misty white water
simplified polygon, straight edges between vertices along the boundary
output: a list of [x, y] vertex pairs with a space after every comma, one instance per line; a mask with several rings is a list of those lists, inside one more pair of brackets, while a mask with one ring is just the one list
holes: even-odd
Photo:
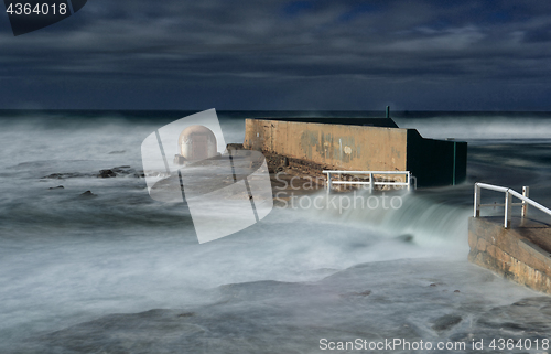
[[[428, 278], [439, 287], [429, 287]], [[457, 287], [461, 294], [452, 292]], [[484, 339], [487, 347], [505, 335], [515, 343], [540, 339], [541, 344], [551, 332], [551, 298], [516, 288], [465, 261], [376, 261], [318, 281], [228, 283], [213, 289], [214, 302], [69, 323], [2, 354], [324, 353], [321, 339], [358, 337], [466, 343], [466, 350], [451, 351], [456, 353], [488, 353], [471, 350], [471, 343]], [[381, 352], [431, 353], [401, 346]]]

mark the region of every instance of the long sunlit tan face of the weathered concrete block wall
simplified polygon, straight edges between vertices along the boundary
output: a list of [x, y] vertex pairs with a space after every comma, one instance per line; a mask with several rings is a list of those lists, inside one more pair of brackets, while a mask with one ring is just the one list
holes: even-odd
[[331, 169], [406, 171], [407, 129], [247, 119], [246, 149]]

